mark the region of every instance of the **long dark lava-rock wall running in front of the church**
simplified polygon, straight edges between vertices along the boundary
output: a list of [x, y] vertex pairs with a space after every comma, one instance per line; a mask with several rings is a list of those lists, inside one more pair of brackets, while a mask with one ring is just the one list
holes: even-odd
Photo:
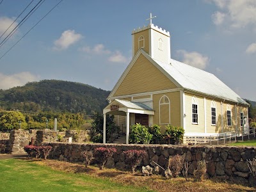
[[179, 154], [189, 163], [188, 173], [193, 175], [197, 161], [205, 160], [207, 163], [207, 175], [223, 180], [232, 180], [254, 184], [255, 179], [250, 173], [246, 159], [253, 159], [256, 150], [253, 147], [214, 147], [214, 146], [193, 146], [188, 145], [112, 145], [112, 144], [79, 144], [79, 143], [45, 143], [52, 146], [49, 155], [51, 159], [82, 163], [83, 150], [93, 150], [97, 147], [115, 147], [117, 152], [113, 158], [106, 163], [108, 168], [126, 170], [129, 165], [124, 162], [123, 151], [129, 149], [146, 150], [147, 157], [143, 159], [144, 166], [156, 166], [154, 162], [167, 168], [170, 156]]

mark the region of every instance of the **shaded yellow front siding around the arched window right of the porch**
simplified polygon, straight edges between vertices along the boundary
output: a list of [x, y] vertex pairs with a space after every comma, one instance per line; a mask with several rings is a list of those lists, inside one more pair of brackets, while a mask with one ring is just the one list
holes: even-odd
[[[153, 124], [159, 124], [159, 100], [163, 95], [170, 99], [170, 124], [180, 126], [180, 92], [161, 93], [153, 95], [153, 108], [155, 115], [153, 116]], [[162, 131], [165, 125], [161, 125]]]

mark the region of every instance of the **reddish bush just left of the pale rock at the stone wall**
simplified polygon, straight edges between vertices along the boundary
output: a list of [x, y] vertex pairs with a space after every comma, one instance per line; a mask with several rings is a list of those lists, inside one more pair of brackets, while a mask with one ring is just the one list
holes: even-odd
[[129, 164], [132, 173], [135, 172], [136, 167], [141, 163], [142, 159], [147, 155], [145, 150], [127, 150], [124, 152], [125, 163]]

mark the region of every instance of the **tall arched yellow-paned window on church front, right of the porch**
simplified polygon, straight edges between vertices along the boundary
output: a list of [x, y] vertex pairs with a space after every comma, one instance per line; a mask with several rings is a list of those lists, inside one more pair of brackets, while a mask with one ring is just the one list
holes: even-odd
[[159, 124], [170, 124], [170, 100], [166, 95], [159, 100]]

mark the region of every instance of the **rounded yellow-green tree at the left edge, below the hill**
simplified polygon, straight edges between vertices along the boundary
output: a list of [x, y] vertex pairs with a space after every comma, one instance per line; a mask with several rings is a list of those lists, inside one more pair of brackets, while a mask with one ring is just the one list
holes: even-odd
[[25, 116], [19, 111], [8, 111], [0, 118], [0, 130], [27, 129]]

